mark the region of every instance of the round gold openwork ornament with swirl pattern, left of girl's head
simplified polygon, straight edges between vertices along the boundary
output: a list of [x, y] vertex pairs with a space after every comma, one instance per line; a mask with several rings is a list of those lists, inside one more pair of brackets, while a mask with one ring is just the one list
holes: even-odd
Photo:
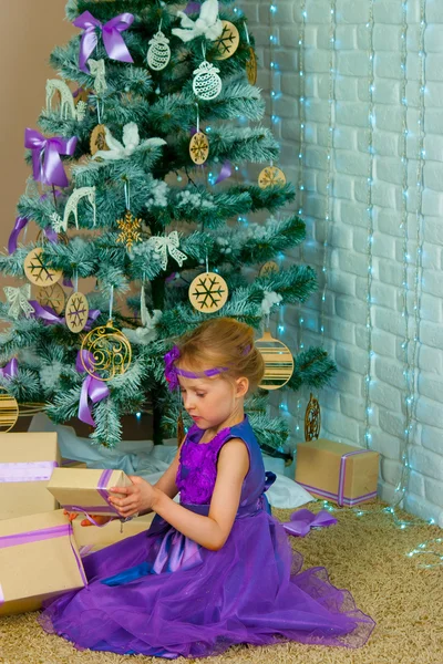
[[90, 376], [99, 381], [111, 381], [124, 374], [132, 360], [132, 347], [127, 336], [114, 328], [112, 319], [106, 325], [91, 330], [82, 343], [82, 351], [89, 351], [90, 362], [85, 362], [81, 353], [81, 361]]

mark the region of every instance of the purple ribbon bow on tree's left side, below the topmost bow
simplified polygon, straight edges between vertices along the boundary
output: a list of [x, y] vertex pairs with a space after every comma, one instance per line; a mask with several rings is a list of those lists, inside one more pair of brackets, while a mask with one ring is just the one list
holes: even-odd
[[64, 173], [60, 155], [72, 155], [75, 152], [78, 138], [63, 138], [53, 136], [45, 138], [40, 132], [27, 128], [24, 132], [24, 147], [32, 152], [32, 168], [35, 180], [44, 185], [68, 187], [69, 180]]

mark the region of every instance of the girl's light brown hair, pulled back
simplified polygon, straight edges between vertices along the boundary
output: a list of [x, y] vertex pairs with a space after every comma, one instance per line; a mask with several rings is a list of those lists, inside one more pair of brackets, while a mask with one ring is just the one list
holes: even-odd
[[254, 392], [265, 373], [261, 353], [254, 345], [254, 329], [233, 318], [208, 319], [192, 332], [182, 336], [177, 346], [179, 369], [204, 371], [228, 367], [217, 374], [234, 383], [245, 376], [249, 381], [248, 392]]

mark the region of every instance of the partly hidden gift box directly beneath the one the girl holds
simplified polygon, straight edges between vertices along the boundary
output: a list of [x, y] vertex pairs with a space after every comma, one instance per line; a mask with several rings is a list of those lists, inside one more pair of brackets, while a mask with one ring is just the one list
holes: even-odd
[[81, 522], [84, 519], [84, 515], [79, 515], [76, 519], [72, 521], [74, 529], [74, 538], [78, 543], [80, 554], [82, 557], [87, 556], [93, 551], [120, 542], [127, 537], [138, 535], [144, 530], [148, 530], [154, 512], [145, 515], [143, 517], [135, 517], [128, 521], [120, 521], [119, 519], [110, 521], [105, 526], [97, 528], [96, 526], [82, 526]]

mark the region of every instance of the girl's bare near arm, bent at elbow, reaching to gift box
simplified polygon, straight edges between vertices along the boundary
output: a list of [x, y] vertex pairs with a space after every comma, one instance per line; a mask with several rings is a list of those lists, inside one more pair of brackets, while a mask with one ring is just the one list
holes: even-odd
[[[204, 517], [177, 505], [158, 487], [137, 478], [136, 489], [122, 487], [119, 492], [126, 498], [111, 500], [122, 516], [132, 516], [136, 507], [151, 508], [176, 530], [202, 547], [218, 551], [229, 537], [240, 502], [241, 487], [249, 469], [249, 454], [240, 438], [225, 443], [218, 455], [217, 479], [210, 500], [209, 515]], [[134, 498], [136, 501], [134, 504]]]

